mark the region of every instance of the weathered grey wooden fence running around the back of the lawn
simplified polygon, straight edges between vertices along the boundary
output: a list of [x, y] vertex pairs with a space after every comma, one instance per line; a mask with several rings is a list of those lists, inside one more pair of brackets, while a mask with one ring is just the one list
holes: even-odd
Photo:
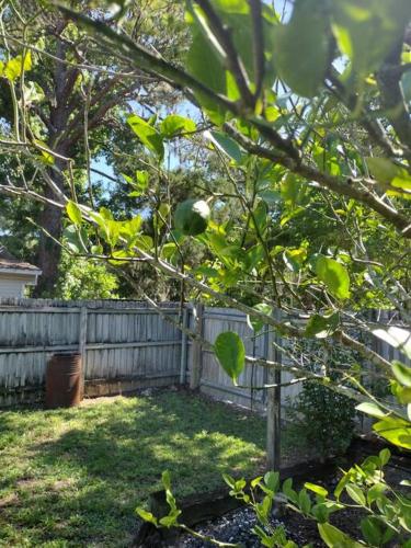
[[[161, 308], [171, 318], [179, 317], [176, 304], [162, 304]], [[210, 343], [222, 331], [236, 331], [248, 355], [288, 364], [281, 353], [273, 354], [272, 331], [254, 336], [242, 312], [210, 307], [199, 307], [198, 312], [196, 318], [193, 307], [187, 306], [185, 324]], [[373, 349], [388, 359], [403, 359], [378, 340]], [[239, 379], [247, 388], [233, 387], [212, 352], [189, 342], [144, 302], [0, 299], [0, 406], [41, 399], [47, 361], [62, 351], [81, 352], [87, 396], [190, 381], [192, 388], [217, 399], [258, 410], [279, 401], [278, 393], [275, 397], [270, 390], [258, 389], [267, 381], [278, 381], [278, 377], [273, 379], [265, 368], [248, 364]], [[290, 374], [282, 374], [282, 383], [289, 379]], [[300, 385], [283, 388], [281, 400], [293, 399], [299, 389]]]

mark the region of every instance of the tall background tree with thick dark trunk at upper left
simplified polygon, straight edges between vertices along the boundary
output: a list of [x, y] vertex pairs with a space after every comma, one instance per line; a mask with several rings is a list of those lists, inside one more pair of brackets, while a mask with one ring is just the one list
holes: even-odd
[[[91, 13], [88, 2], [82, 2], [81, 8]], [[106, 9], [99, 9], [93, 14], [95, 21], [110, 19]], [[167, 52], [174, 58], [183, 41], [180, 14], [181, 9], [174, 2], [130, 2], [121, 26], [127, 35], [142, 43], [150, 41], [152, 50]], [[114, 27], [118, 23], [110, 24]], [[2, 11], [2, 27], [3, 56], [13, 60], [25, 52], [30, 82], [20, 81], [14, 75], [11, 78], [3, 75], [0, 115], [5, 124], [14, 124], [16, 137], [42, 147], [38, 153], [43, 152], [44, 162], [42, 172], [34, 173], [33, 161], [19, 158], [14, 161], [18, 178], [21, 170], [27, 180], [34, 176], [37, 189], [47, 199], [59, 190], [79, 194], [92, 205], [91, 162], [99, 153], [99, 142], [110, 139], [110, 132], [122, 111], [127, 111], [132, 102], [140, 107], [150, 107], [160, 101], [172, 104], [175, 94], [164, 96], [158, 78], [142, 75], [125, 58], [102, 52], [99, 44], [69, 18], [42, 2], [10, 3]], [[32, 49], [24, 44], [30, 44]], [[7, 175], [11, 181], [16, 180], [15, 172], [9, 168]], [[98, 198], [99, 195], [95, 201]], [[32, 213], [44, 229], [37, 231], [39, 241], [33, 258], [43, 271], [35, 294], [53, 296], [60, 261], [57, 241], [62, 231], [61, 210], [45, 203]], [[19, 217], [19, 208], [14, 217]], [[24, 219], [20, 222], [30, 232]]]

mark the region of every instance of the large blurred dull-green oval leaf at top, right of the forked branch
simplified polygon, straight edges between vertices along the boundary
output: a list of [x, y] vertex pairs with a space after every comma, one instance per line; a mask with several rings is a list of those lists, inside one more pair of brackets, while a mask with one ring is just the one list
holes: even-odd
[[289, 23], [274, 28], [274, 61], [294, 93], [316, 95], [329, 64], [329, 34], [321, 2], [295, 1]]

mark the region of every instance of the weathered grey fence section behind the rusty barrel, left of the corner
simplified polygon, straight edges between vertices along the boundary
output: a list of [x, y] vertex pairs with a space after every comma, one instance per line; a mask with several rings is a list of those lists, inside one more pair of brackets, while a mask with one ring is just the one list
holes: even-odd
[[[176, 317], [174, 304], [162, 305]], [[176, 383], [181, 332], [135, 301], [0, 300], [0, 404], [42, 397], [55, 352], [81, 352], [88, 396]]]

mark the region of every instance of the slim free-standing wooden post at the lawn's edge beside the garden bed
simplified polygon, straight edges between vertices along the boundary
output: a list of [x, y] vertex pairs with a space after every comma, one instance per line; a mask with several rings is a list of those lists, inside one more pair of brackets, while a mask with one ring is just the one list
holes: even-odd
[[[269, 326], [267, 359], [281, 363], [282, 356], [277, 349], [274, 349], [273, 341], [276, 333]], [[267, 385], [279, 385], [282, 374], [278, 369], [269, 367]], [[269, 470], [279, 470], [281, 465], [281, 387], [267, 388], [266, 403], [266, 458]]]

